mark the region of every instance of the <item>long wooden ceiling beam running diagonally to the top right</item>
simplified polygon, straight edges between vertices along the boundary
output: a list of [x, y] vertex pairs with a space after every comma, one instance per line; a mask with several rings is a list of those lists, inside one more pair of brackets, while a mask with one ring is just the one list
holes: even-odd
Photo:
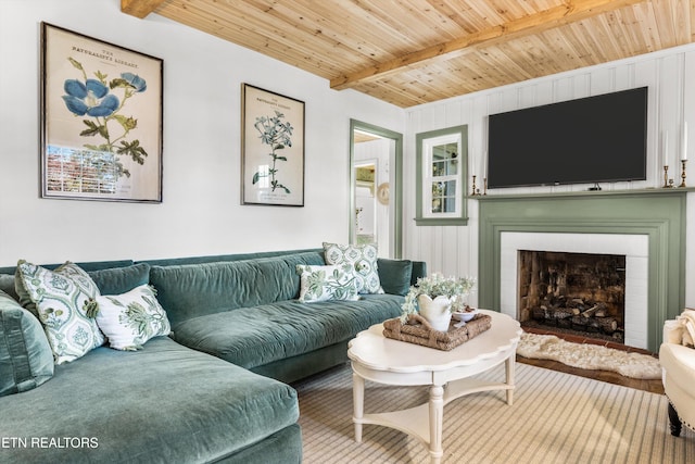
[[365, 67], [355, 73], [342, 75], [331, 79], [330, 87], [336, 90], [346, 89], [369, 78], [383, 77], [386, 74], [403, 71], [404, 67], [413, 64], [422, 64], [437, 59], [451, 59], [479, 48], [532, 34], [540, 34], [560, 25], [582, 21], [644, 1], [646, 0], [567, 0], [561, 5], [538, 14], [523, 16], [465, 37], [407, 53], [394, 60]]

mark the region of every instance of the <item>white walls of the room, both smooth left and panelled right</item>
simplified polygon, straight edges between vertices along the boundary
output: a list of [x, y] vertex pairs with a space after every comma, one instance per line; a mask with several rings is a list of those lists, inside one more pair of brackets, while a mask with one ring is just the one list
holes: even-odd
[[[417, 133], [468, 124], [469, 156], [480, 178], [489, 114], [647, 85], [649, 179], [632, 187], [659, 185], [657, 148], [665, 130], [672, 138], [669, 164], [675, 166], [684, 120], [691, 127], [690, 158], [695, 159], [695, 87], [687, 85], [695, 81], [695, 46], [403, 111], [358, 92], [332, 91], [325, 79], [161, 16], [125, 15], [119, 3], [0, 0], [0, 266], [21, 258], [41, 263], [148, 259], [346, 241], [351, 117], [406, 135], [403, 255], [445, 274], [477, 275], [478, 203], [469, 201], [466, 227], [415, 226]], [[164, 60], [162, 204], [39, 198], [41, 21]], [[304, 208], [240, 205], [242, 83], [306, 102]], [[695, 186], [692, 162], [690, 172]], [[693, 193], [688, 200], [686, 266], [687, 275], [695, 276]], [[686, 303], [695, 306], [695, 286]]]

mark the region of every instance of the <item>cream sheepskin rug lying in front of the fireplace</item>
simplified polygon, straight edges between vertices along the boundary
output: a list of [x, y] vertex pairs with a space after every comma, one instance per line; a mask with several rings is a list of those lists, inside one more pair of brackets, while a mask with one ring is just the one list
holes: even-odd
[[517, 354], [523, 358], [558, 361], [583, 369], [612, 371], [632, 378], [661, 378], [661, 365], [654, 356], [596, 344], [573, 343], [554, 335], [523, 333], [517, 347]]

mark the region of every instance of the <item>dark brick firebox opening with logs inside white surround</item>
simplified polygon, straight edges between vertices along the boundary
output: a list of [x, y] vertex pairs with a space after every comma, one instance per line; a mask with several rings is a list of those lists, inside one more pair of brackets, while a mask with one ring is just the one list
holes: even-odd
[[519, 250], [522, 327], [624, 342], [626, 255]]

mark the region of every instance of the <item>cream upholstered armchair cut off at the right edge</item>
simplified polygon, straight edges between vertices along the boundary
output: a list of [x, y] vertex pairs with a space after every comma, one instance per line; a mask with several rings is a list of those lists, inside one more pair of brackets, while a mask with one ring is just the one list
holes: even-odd
[[695, 311], [685, 310], [664, 324], [659, 361], [664, 390], [669, 399], [671, 435], [681, 435], [682, 425], [695, 430]]

